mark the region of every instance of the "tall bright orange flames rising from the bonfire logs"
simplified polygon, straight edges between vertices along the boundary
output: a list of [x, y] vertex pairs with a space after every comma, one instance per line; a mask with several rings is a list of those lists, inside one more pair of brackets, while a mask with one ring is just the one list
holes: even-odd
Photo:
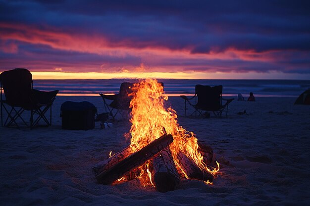
[[[188, 158], [191, 158], [201, 170], [207, 170], [215, 174], [219, 170], [212, 171], [203, 161], [203, 155], [198, 152], [196, 135], [193, 132], [186, 131], [177, 123], [176, 111], [167, 107], [168, 97], [163, 93], [163, 85], [157, 80], [143, 80], [133, 85], [132, 100], [130, 102], [132, 123], [130, 133], [130, 147], [134, 152], [148, 145], [161, 135], [168, 133], [173, 136], [173, 143], [170, 144], [170, 150], [177, 167], [177, 154], [182, 151]], [[140, 167], [141, 175], [139, 179], [143, 180], [143, 185], [153, 185], [152, 174], [149, 170], [148, 161]], [[146, 172], [145, 172], [146, 171]], [[183, 171], [186, 178], [187, 174]], [[145, 175], [147, 174], [147, 175]], [[145, 175], [148, 180], [142, 178]], [[208, 182], [209, 183], [209, 182]]]

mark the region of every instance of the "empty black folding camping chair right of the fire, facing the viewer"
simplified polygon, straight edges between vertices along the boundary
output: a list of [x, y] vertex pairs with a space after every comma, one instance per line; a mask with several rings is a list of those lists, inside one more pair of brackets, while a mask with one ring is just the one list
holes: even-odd
[[[187, 96], [181, 96], [185, 101], [185, 117], [186, 117], [186, 104], [189, 103], [191, 106], [195, 108], [195, 111], [191, 114], [195, 113], [195, 117], [197, 117], [197, 113], [199, 116], [202, 116], [203, 111], [213, 112], [215, 116], [221, 117], [222, 112], [226, 108], [226, 116], [228, 111], [229, 103], [234, 100], [232, 99], [224, 99], [222, 98], [222, 90], [223, 86], [204, 86], [197, 84], [195, 87], [195, 95], [191, 98]], [[191, 99], [195, 98], [195, 104], [191, 103]], [[222, 104], [223, 101], [226, 101]]]

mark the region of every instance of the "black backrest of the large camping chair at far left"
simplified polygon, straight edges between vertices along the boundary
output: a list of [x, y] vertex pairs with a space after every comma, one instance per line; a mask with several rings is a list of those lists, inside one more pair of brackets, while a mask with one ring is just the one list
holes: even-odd
[[27, 69], [13, 69], [0, 74], [5, 101], [14, 107], [31, 108], [32, 74]]

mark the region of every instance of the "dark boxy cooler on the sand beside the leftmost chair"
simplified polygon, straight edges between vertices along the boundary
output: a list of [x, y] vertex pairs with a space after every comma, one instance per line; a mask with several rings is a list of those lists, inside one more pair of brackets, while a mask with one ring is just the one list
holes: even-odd
[[95, 127], [97, 108], [90, 102], [66, 101], [60, 107], [61, 128], [87, 130]]

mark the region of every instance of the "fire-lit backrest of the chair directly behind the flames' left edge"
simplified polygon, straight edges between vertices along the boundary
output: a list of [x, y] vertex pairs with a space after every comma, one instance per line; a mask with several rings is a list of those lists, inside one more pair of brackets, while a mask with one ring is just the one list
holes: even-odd
[[120, 85], [119, 93], [117, 96], [117, 107], [118, 109], [122, 110], [129, 110], [130, 101], [133, 96], [129, 96], [130, 93], [132, 93], [132, 86], [133, 83], [130, 82], [123, 82]]

